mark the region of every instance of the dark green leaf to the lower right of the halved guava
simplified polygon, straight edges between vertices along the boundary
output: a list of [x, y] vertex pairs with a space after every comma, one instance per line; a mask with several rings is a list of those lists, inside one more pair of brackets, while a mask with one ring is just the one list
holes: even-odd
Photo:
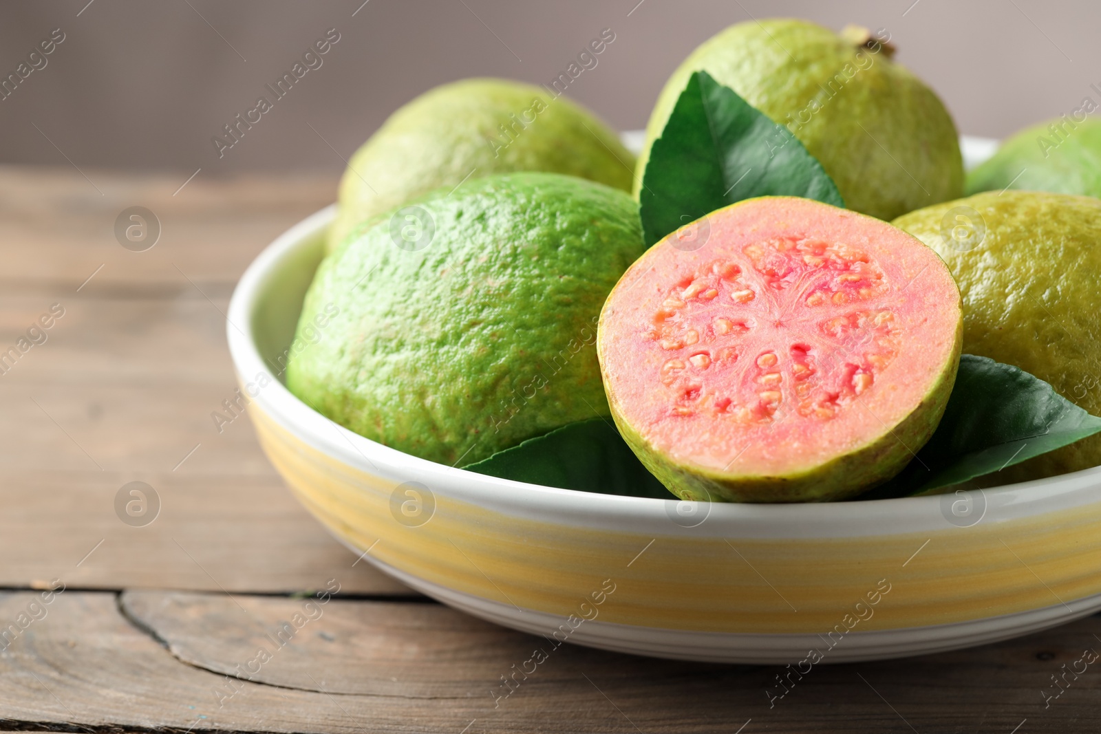
[[964, 354], [945, 417], [902, 473], [857, 500], [937, 494], [1101, 431], [1092, 416], [1024, 370]]

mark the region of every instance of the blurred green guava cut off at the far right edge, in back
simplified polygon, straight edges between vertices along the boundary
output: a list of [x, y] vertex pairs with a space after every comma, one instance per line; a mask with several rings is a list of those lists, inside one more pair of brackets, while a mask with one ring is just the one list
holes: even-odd
[[[1059, 136], [1048, 128], [1064, 125]], [[1101, 121], [1042, 122], [1005, 141], [967, 177], [967, 193], [1006, 187], [1101, 197]], [[1042, 145], [1043, 143], [1043, 145]]]

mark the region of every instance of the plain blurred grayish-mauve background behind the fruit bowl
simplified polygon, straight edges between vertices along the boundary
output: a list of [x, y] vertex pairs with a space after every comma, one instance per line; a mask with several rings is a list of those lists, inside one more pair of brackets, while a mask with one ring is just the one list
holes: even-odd
[[[1003, 136], [1087, 95], [1101, 100], [1090, 89], [1101, 86], [1097, 0], [361, 2], [4, 2], [0, 75], [52, 29], [67, 37], [0, 102], [0, 162], [335, 171], [422, 91], [481, 75], [548, 84], [604, 28], [615, 41], [568, 95], [617, 128], [641, 128], [697, 44], [730, 23], [777, 15], [886, 28], [895, 59], [940, 94], [968, 134]], [[210, 138], [329, 28], [341, 39], [324, 65], [219, 160]]]

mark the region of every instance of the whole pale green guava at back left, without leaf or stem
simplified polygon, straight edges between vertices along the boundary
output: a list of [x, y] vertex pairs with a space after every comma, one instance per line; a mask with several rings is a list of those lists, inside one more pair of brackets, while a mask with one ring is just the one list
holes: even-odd
[[565, 97], [506, 79], [446, 84], [391, 114], [352, 155], [328, 249], [372, 216], [468, 177], [544, 171], [629, 191], [633, 169], [619, 136]]

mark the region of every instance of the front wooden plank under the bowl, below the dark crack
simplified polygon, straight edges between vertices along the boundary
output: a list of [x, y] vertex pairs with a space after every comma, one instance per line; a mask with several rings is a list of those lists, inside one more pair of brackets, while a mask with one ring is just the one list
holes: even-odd
[[[0, 596], [0, 621], [32, 600]], [[1049, 708], [1040, 695], [1064, 664], [1101, 647], [1097, 617], [974, 650], [815, 667], [770, 708], [765, 689], [776, 688], [777, 667], [550, 649], [541, 637], [433, 604], [338, 596], [273, 651], [257, 682], [227, 681], [224, 671], [254, 657], [262, 633], [274, 634], [304, 603], [140, 592], [122, 600], [131, 622], [115, 594], [65, 592], [0, 655], [0, 727], [651, 734], [732, 733], [745, 724], [743, 734], [1009, 734], [1024, 720], [1020, 732], [1101, 726], [1093, 668], [1068, 676]], [[536, 648], [547, 659], [494, 701], [500, 677]]]

